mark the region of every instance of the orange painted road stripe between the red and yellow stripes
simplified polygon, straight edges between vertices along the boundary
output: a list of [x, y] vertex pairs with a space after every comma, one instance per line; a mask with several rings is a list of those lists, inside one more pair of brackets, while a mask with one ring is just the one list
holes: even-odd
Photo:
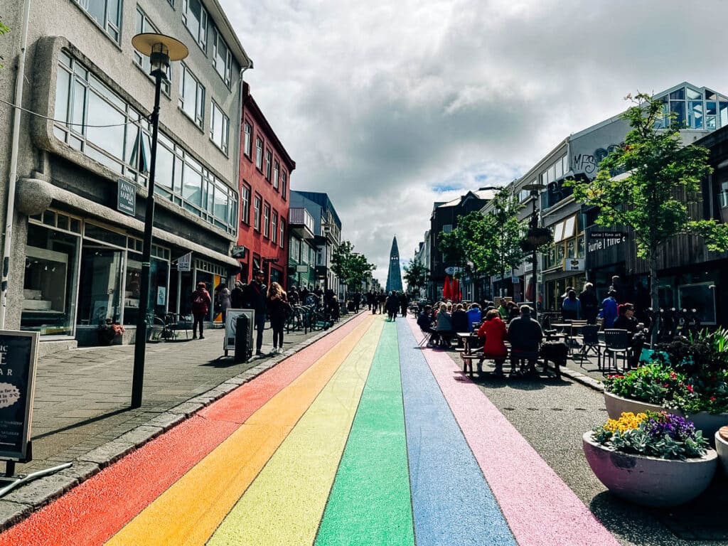
[[107, 545], [204, 545], [371, 323], [365, 320], [272, 397]]

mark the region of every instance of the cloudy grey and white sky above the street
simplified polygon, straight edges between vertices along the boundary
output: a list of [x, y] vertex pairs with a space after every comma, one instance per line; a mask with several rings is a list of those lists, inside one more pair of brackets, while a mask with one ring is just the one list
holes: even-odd
[[728, 92], [724, 0], [220, 0], [253, 96], [384, 284], [432, 203], [524, 173], [629, 92]]

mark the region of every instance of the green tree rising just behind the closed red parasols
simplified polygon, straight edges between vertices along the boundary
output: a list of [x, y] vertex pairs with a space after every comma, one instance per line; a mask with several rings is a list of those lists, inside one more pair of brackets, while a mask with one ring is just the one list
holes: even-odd
[[475, 282], [475, 298], [478, 299], [480, 280], [489, 274], [490, 249], [486, 244], [490, 226], [477, 210], [458, 218], [458, 225], [451, 232], [440, 232], [438, 248], [448, 265], [459, 268], [455, 277], [470, 277]]

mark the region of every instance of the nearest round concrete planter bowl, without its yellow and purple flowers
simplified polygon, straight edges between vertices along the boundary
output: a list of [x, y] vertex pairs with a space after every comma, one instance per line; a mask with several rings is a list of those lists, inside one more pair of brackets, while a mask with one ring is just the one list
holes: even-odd
[[584, 454], [597, 478], [612, 494], [643, 506], [677, 506], [690, 502], [710, 485], [718, 456], [709, 449], [700, 459], [670, 461], [614, 451], [582, 437]]

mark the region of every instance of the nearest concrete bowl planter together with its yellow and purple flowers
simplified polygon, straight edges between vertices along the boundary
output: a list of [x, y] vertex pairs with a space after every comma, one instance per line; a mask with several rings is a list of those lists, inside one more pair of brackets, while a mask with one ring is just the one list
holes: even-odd
[[624, 413], [585, 432], [587, 462], [614, 495], [645, 506], [676, 506], [705, 491], [717, 455], [694, 425], [665, 411]]

